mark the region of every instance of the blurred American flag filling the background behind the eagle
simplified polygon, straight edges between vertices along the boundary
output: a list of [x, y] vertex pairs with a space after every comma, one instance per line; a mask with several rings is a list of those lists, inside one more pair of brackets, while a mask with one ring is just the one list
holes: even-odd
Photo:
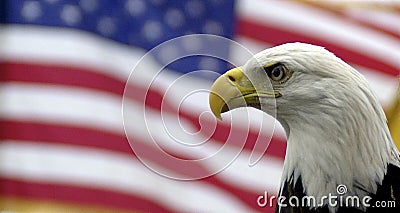
[[3, 0], [0, 210], [273, 212], [257, 201], [278, 193], [283, 129], [248, 109], [217, 121], [212, 80], [249, 58], [238, 44], [301, 41], [387, 108], [399, 20], [398, 1]]

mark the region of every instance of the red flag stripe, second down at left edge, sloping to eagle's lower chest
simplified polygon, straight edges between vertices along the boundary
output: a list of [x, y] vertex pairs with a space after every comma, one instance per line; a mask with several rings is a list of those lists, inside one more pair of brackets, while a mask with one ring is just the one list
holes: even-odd
[[[98, 130], [16, 121], [0, 121], [0, 126], [2, 127], [2, 131], [0, 132], [1, 140], [23, 140], [32, 141], [35, 143], [52, 144], [61, 143], [69, 146], [84, 146], [89, 148], [96, 147], [132, 154], [132, 151], [130, 150], [124, 137], [111, 133], [100, 132]], [[188, 166], [188, 164], [176, 163], [176, 161], [171, 162], [171, 158], [163, 158], [162, 155], [155, 154], [157, 151], [154, 151], [152, 148], [146, 146], [144, 141], [137, 141], [136, 144], [141, 146], [141, 150], [147, 150], [146, 153], [141, 152], [145, 155], [141, 157], [149, 159], [153, 163], [160, 165], [165, 169], [174, 171], [178, 174], [184, 174], [186, 176], [209, 174], [207, 169], [197, 162], [192, 162], [190, 166]], [[260, 188], [260, 193], [255, 193], [253, 191], [228, 184], [218, 175], [214, 175], [200, 181], [205, 181], [208, 184], [214, 185], [221, 190], [228, 192], [255, 210], [259, 208], [255, 202], [258, 194], [262, 194], [263, 190], [265, 190]]]

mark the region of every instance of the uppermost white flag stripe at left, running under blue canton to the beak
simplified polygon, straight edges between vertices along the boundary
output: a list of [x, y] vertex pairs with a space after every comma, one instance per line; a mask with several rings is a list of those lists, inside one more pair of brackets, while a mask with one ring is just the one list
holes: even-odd
[[[43, 26], [0, 25], [0, 39], [4, 44], [0, 48], [0, 59], [8, 61], [27, 61], [41, 64], [67, 65], [72, 67], [86, 67], [93, 72], [99, 72], [115, 77], [121, 82], [128, 80], [131, 71], [130, 83], [149, 86], [156, 81], [156, 88], [167, 89], [181, 75], [167, 71], [151, 56], [143, 56], [146, 51], [133, 46], [127, 46], [109, 39], [96, 36], [75, 29], [54, 30]], [[27, 36], [29, 35], [29, 36]], [[157, 76], [160, 74], [161, 76]], [[187, 75], [189, 88], [209, 88], [211, 82]], [[177, 90], [176, 92], [179, 92]]]

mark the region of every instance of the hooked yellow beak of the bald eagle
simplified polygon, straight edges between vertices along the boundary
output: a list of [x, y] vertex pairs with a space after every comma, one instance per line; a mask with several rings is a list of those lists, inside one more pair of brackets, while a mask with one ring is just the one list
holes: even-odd
[[214, 82], [209, 101], [211, 111], [218, 119], [222, 119], [221, 113], [234, 108], [260, 106], [254, 86], [244, 76], [240, 67], [227, 71]]

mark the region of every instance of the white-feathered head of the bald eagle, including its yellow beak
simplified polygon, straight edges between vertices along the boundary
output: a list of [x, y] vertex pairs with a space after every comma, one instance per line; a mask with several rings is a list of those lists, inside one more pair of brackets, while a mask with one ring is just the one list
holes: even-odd
[[291, 125], [354, 107], [354, 97], [377, 103], [363, 76], [333, 53], [320, 46], [288, 43], [226, 72], [214, 83], [209, 101], [220, 119], [223, 112], [255, 107], [277, 118], [289, 133]]

